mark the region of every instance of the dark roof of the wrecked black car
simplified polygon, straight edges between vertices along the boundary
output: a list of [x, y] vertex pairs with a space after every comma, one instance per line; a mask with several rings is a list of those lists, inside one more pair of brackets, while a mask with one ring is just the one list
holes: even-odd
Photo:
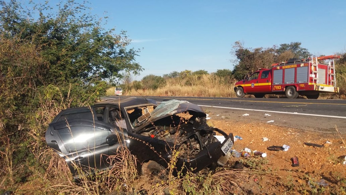
[[135, 105], [142, 105], [142, 104], [154, 104], [157, 105], [156, 101], [152, 99], [142, 98], [142, 97], [115, 97], [111, 100], [101, 101], [94, 106], [97, 105], [120, 105], [120, 107], [128, 107], [128, 106], [135, 106]]

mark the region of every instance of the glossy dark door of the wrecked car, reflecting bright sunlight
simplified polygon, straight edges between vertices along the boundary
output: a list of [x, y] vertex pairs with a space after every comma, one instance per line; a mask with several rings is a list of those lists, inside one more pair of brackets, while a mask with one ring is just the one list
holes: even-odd
[[[103, 122], [70, 121], [52, 124], [52, 134], [59, 146], [72, 174], [80, 175], [80, 168], [85, 172], [110, 167], [109, 151], [116, 151], [119, 144], [110, 146], [106, 143], [113, 127]], [[51, 127], [50, 127], [51, 128]], [[48, 142], [48, 140], [47, 140]], [[113, 153], [113, 152], [112, 152]]]

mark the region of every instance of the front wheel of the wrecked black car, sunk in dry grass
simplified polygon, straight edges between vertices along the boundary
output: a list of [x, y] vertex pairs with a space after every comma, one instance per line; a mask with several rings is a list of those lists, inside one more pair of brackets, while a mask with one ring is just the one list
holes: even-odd
[[167, 180], [166, 169], [155, 161], [149, 161], [142, 165], [142, 175], [152, 179]]

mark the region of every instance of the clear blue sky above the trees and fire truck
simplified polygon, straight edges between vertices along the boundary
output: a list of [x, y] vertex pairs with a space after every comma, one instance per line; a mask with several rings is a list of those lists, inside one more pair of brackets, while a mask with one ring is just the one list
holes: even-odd
[[[77, 0], [78, 1], [78, 0]], [[145, 75], [233, 69], [235, 41], [245, 47], [301, 42], [310, 53], [346, 50], [346, 0], [90, 0], [106, 29], [126, 30]]]

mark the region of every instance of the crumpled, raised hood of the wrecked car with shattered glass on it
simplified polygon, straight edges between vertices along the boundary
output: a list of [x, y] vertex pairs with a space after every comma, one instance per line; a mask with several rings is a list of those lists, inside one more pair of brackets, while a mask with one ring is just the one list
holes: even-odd
[[168, 100], [168, 101], [162, 101], [161, 104], [159, 104], [153, 112], [151, 112], [151, 116], [145, 120], [144, 124], [139, 124], [136, 129], [141, 129], [147, 124], [150, 124], [152, 122], [155, 122], [157, 120], [160, 120], [165, 117], [172, 116], [174, 114], [179, 114], [183, 112], [193, 112], [195, 116], [197, 117], [206, 117], [206, 113], [204, 113], [204, 110], [195, 104], [192, 104], [188, 101], [181, 101], [181, 100]]

